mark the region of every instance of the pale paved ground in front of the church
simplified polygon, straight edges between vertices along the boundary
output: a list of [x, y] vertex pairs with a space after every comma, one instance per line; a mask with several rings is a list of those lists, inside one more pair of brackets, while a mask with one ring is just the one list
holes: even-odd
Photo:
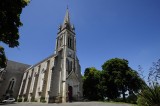
[[[1, 104], [2, 106], [2, 104]], [[114, 104], [114, 103], [103, 103], [103, 102], [72, 102], [72, 103], [14, 103], [14, 104], [5, 104], [4, 106], [133, 106], [130, 104]]]

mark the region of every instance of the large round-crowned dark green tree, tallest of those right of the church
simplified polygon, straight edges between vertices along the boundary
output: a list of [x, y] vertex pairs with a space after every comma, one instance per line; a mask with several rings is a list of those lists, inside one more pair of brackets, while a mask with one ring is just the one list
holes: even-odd
[[121, 92], [123, 101], [126, 101], [125, 92], [127, 90], [131, 93], [136, 92], [143, 84], [143, 80], [138, 76], [138, 73], [128, 66], [128, 61], [125, 59], [110, 59], [102, 65], [102, 69], [103, 73], [107, 75], [106, 83], [112, 84], [106, 85], [106, 94], [111, 95], [110, 91], [114, 89], [114, 92], [116, 92], [114, 97], [118, 97], [118, 93]]

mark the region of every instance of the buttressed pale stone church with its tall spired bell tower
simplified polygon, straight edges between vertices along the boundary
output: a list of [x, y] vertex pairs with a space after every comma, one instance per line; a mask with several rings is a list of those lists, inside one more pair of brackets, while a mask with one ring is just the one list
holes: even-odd
[[22, 102], [47, 103], [80, 100], [82, 97], [75, 28], [70, 22], [68, 9], [58, 28], [54, 54], [23, 72], [17, 95], [17, 100]]

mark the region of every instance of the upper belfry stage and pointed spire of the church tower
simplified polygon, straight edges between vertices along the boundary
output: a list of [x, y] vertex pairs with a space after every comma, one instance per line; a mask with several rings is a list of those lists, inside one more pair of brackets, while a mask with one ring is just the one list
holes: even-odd
[[66, 10], [66, 15], [65, 15], [65, 18], [64, 18], [64, 22], [58, 28], [58, 35], [57, 35], [57, 38], [56, 38], [55, 54], [57, 54], [57, 52], [64, 47], [67, 47], [68, 49], [71, 49], [72, 51], [76, 50], [75, 28], [74, 28], [74, 25], [71, 25], [71, 23], [70, 23], [68, 8]]

